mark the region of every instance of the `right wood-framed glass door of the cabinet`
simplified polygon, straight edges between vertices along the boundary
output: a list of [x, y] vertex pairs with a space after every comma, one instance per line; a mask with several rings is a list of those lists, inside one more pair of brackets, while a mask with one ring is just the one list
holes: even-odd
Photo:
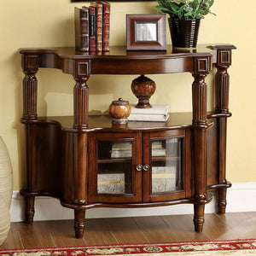
[[183, 130], [143, 136], [143, 201], [169, 201], [190, 195], [190, 137]]

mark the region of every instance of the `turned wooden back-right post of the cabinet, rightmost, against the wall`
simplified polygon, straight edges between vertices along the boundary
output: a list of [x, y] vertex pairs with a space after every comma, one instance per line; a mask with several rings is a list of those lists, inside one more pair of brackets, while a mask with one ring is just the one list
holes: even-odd
[[[214, 49], [214, 47], [212, 48]], [[226, 209], [226, 189], [230, 187], [230, 183], [226, 180], [226, 140], [227, 140], [227, 118], [230, 117], [229, 112], [229, 93], [230, 93], [230, 75], [227, 69], [231, 65], [231, 49], [234, 46], [217, 46], [215, 55], [217, 61], [217, 73], [215, 75], [215, 113], [220, 113], [217, 119], [218, 126], [218, 184], [222, 185], [218, 188], [218, 213], [224, 214]]]

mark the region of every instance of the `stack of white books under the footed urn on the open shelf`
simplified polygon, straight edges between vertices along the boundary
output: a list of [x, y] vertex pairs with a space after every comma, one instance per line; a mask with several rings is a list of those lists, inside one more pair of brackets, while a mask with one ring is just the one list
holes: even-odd
[[169, 118], [169, 105], [155, 104], [152, 108], [135, 108], [131, 105], [131, 114], [128, 117], [129, 121], [154, 121], [166, 122]]

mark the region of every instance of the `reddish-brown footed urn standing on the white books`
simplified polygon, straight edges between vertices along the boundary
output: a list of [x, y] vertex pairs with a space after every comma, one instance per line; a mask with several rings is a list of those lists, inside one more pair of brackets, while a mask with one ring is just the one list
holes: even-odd
[[131, 90], [138, 98], [136, 108], [152, 108], [149, 98], [154, 94], [155, 83], [146, 76], [141, 75], [137, 79], [132, 80]]

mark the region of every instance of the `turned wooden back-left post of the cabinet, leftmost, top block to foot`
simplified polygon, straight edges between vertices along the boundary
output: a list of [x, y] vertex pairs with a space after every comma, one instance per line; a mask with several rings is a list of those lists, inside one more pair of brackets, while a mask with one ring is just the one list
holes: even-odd
[[[38, 79], [36, 73], [38, 72], [38, 55], [22, 55], [21, 65], [25, 77], [23, 79], [23, 122], [38, 118], [37, 100], [38, 100]], [[34, 160], [33, 157], [33, 140], [31, 137], [32, 127], [26, 125], [26, 191], [33, 190], [33, 172]], [[26, 223], [31, 224], [34, 217], [34, 199], [32, 195], [25, 196], [25, 214]]]

